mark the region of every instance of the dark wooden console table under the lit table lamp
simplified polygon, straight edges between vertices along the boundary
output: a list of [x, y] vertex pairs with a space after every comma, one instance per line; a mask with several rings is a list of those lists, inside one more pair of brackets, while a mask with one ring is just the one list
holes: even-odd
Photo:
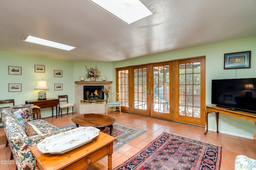
[[59, 104], [59, 100], [56, 98], [49, 98], [46, 100], [26, 100], [26, 104], [34, 104], [38, 107], [41, 107], [41, 109], [52, 107], [52, 116], [53, 116], [53, 107], [56, 107], [56, 118], [57, 118], [57, 106]]

